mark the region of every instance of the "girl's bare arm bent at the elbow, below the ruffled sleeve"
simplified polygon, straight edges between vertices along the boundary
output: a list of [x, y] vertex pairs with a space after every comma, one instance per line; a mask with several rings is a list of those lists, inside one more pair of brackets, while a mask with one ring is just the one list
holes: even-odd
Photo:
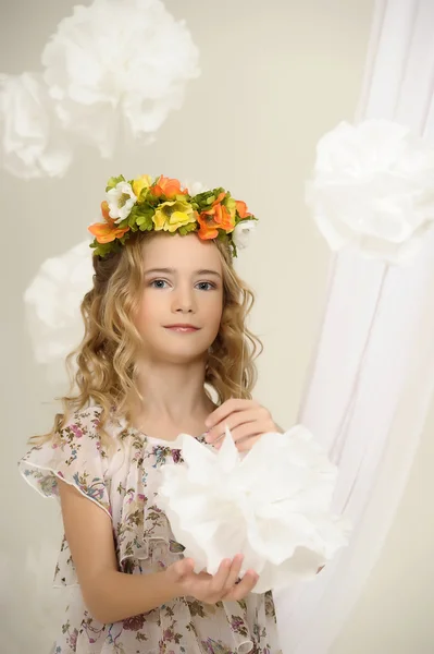
[[116, 622], [178, 596], [178, 586], [164, 572], [120, 572], [109, 516], [65, 482], [59, 481], [59, 493], [83, 597], [97, 620]]

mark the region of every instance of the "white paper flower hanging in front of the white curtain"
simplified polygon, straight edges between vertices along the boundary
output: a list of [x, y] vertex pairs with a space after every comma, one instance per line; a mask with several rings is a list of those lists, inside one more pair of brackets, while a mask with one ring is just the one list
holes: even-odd
[[434, 221], [434, 149], [386, 120], [340, 123], [317, 147], [307, 202], [332, 250], [401, 264]]

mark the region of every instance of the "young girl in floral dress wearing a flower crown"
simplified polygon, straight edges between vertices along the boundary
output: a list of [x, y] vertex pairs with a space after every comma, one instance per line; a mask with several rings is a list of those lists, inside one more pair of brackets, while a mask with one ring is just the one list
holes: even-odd
[[219, 448], [227, 424], [245, 451], [278, 431], [251, 400], [253, 296], [233, 268], [256, 219], [222, 189], [190, 196], [164, 177], [112, 178], [101, 207], [75, 392], [20, 462], [60, 498], [54, 583], [76, 586], [53, 652], [277, 654], [257, 574], [239, 579], [240, 555], [195, 573], [154, 501], [160, 467], [182, 462], [181, 432]]

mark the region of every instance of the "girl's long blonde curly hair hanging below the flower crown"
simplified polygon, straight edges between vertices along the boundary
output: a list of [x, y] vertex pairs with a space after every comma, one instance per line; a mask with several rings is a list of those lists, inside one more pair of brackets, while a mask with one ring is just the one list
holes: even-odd
[[[49, 440], [64, 428], [74, 411], [91, 404], [102, 409], [98, 427], [102, 439], [113, 412], [132, 426], [132, 405], [141, 399], [136, 354], [142, 343], [133, 317], [141, 296], [142, 243], [159, 235], [170, 238], [138, 232], [122, 251], [104, 258], [94, 256], [94, 286], [80, 306], [85, 336], [66, 358], [71, 388], [60, 398], [63, 413], [57, 414], [48, 434], [34, 436], [33, 443]], [[262, 343], [246, 325], [255, 295], [236, 274], [227, 244], [215, 241], [215, 245], [222, 259], [223, 312], [208, 355], [204, 385], [209, 397], [207, 386], [215, 391], [220, 404], [232, 397], [251, 399], [257, 379], [255, 360], [262, 352]]]

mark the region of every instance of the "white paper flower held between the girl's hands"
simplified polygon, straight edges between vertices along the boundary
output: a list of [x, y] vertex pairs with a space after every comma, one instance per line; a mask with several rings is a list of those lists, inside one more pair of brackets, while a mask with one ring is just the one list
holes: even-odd
[[185, 434], [175, 447], [185, 463], [162, 467], [157, 501], [196, 571], [243, 553], [263, 593], [313, 578], [346, 545], [347, 525], [330, 513], [336, 468], [301, 425], [265, 434], [246, 456], [228, 431], [219, 451]]

